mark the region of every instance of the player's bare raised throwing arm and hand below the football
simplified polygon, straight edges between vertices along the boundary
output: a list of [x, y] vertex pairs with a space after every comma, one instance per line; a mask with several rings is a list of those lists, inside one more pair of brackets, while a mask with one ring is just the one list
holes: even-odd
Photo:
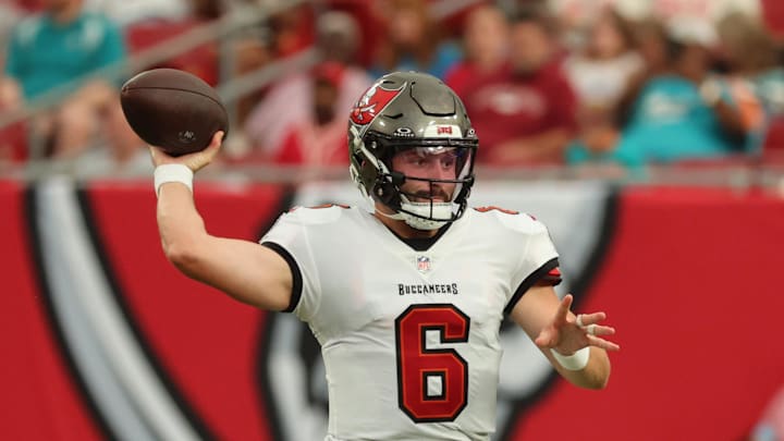
[[[215, 158], [221, 138], [219, 132], [207, 149], [179, 158], [152, 147], [152, 162], [156, 167], [181, 163], [198, 171]], [[179, 182], [160, 186], [157, 218], [163, 253], [184, 274], [262, 309], [289, 307], [293, 277], [286, 261], [255, 242], [209, 234], [187, 186]]]

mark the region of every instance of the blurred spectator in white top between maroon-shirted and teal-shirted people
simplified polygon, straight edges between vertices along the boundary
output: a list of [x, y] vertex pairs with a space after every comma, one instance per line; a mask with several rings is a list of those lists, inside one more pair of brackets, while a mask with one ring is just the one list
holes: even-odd
[[585, 47], [564, 62], [578, 97], [580, 142], [590, 150], [608, 151], [617, 140], [615, 108], [644, 63], [634, 49], [628, 23], [607, 8], [588, 29]]

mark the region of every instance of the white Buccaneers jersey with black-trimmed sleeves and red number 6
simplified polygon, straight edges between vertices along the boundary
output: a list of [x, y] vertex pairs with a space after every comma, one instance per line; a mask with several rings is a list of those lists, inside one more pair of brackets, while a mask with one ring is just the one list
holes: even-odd
[[292, 267], [291, 309], [321, 345], [327, 440], [490, 438], [503, 315], [558, 272], [541, 222], [468, 209], [416, 250], [372, 213], [327, 206], [281, 216], [261, 243]]

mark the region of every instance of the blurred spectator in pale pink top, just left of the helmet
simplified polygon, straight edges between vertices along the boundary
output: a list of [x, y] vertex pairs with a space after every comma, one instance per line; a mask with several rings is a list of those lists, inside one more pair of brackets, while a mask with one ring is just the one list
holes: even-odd
[[[334, 111], [345, 115], [371, 84], [365, 70], [352, 63], [357, 48], [356, 22], [345, 12], [330, 11], [319, 16], [316, 30], [316, 49], [322, 60], [344, 65]], [[278, 155], [284, 131], [306, 120], [314, 108], [314, 85], [310, 73], [303, 72], [271, 86], [243, 126], [247, 143], [255, 150], [254, 157], [274, 158]]]

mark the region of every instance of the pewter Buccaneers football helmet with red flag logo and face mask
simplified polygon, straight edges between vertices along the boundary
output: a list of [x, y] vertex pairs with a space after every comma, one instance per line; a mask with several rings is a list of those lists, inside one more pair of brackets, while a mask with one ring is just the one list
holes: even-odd
[[[352, 180], [363, 195], [394, 211], [388, 215], [418, 230], [436, 230], [457, 220], [474, 184], [479, 139], [463, 102], [439, 78], [419, 72], [380, 77], [352, 109], [348, 155]], [[408, 176], [392, 168], [395, 154], [417, 148], [420, 155], [450, 151], [454, 179]], [[401, 189], [406, 181], [430, 185], [430, 197]], [[434, 184], [455, 184], [451, 200], [437, 199]], [[421, 199], [428, 201], [420, 201]]]

